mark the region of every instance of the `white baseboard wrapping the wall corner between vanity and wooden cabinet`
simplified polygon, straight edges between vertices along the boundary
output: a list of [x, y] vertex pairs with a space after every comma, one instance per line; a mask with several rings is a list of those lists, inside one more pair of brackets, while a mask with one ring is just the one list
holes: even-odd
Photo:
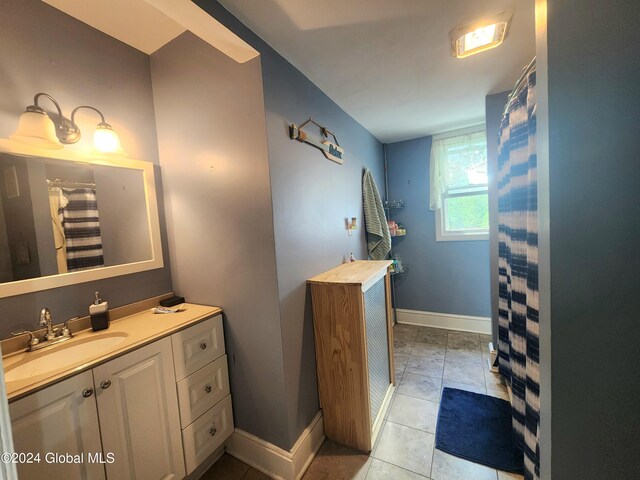
[[236, 428], [227, 440], [227, 453], [277, 480], [299, 480], [324, 441], [322, 412], [311, 420], [291, 451], [283, 450]]

